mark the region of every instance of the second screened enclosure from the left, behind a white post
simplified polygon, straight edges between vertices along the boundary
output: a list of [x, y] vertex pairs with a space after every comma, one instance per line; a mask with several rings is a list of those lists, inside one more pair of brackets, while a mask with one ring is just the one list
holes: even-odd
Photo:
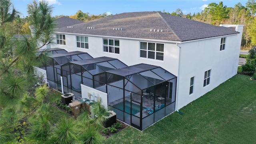
[[86, 60], [92, 58], [92, 56], [90, 56], [88, 53], [79, 51], [52, 54], [49, 57], [50, 60], [45, 64], [47, 80], [50, 87], [55, 89], [58, 88], [59, 91], [62, 91], [60, 79], [61, 65], [71, 61]]

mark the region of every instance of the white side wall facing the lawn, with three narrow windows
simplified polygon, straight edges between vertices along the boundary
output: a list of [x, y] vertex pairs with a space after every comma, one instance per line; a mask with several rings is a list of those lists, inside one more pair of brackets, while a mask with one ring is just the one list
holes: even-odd
[[[222, 37], [180, 44], [177, 110], [216, 88], [237, 74], [242, 32], [226, 36], [225, 50], [220, 51]], [[204, 72], [211, 70], [210, 84], [203, 87]], [[189, 95], [190, 78], [194, 79], [194, 93]]]

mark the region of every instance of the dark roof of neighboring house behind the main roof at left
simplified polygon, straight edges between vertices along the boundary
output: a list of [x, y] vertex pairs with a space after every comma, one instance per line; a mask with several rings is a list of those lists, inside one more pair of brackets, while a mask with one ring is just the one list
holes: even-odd
[[67, 16], [60, 16], [56, 18], [57, 28], [62, 28], [65, 26], [71, 26], [71, 25], [80, 24], [80, 23], [83, 23], [83, 21], [76, 20], [74, 18], [69, 18]]

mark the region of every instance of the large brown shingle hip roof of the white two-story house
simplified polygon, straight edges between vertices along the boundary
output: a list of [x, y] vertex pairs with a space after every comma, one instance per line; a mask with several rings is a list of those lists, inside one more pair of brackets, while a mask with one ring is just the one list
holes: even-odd
[[69, 28], [63, 27], [56, 32], [171, 41], [188, 41], [239, 33], [231, 28], [213, 26], [162, 12], [116, 14]]

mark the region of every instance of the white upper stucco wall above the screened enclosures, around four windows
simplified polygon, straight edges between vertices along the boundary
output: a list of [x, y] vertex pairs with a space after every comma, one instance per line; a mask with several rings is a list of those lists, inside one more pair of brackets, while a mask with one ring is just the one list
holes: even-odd
[[[154, 40], [129, 40], [124, 38], [114, 38], [120, 40], [120, 54], [114, 54], [110, 52], [103, 51], [103, 38], [110, 37], [96, 37], [88, 36], [88, 45], [89, 49], [76, 48], [76, 36], [85, 36], [85, 35], [70, 35], [65, 34], [66, 45], [55, 44], [51, 48], [63, 48], [68, 52], [71, 51], [82, 51], [87, 52], [93, 58], [108, 56], [111, 58], [117, 58], [118, 60], [124, 62], [128, 66], [134, 64], [152, 64], [155, 66], [160, 66], [166, 69], [168, 72], [171, 72], [174, 75], [178, 74], [178, 59], [179, 59], [179, 48], [176, 46], [176, 43], [170, 42], [159, 42]], [[148, 58], [140, 58], [140, 42], [153, 42], [164, 44], [164, 60], [152, 60]]]

